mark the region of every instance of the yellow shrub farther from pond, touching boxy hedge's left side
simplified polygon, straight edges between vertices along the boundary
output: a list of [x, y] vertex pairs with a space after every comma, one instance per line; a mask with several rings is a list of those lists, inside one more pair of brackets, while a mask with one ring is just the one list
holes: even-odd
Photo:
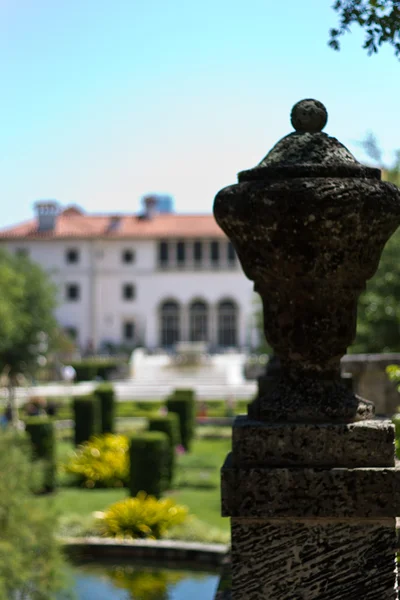
[[122, 487], [129, 480], [129, 444], [123, 435], [105, 434], [82, 444], [64, 466], [88, 488]]

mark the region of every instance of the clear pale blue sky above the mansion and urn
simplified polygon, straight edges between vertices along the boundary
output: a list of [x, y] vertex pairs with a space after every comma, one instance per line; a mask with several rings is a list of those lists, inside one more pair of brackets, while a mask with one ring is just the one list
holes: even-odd
[[400, 62], [356, 28], [327, 46], [332, 0], [0, 0], [0, 226], [56, 198], [135, 211], [148, 192], [209, 212], [325, 103], [325, 129], [362, 159], [373, 131], [400, 147]]

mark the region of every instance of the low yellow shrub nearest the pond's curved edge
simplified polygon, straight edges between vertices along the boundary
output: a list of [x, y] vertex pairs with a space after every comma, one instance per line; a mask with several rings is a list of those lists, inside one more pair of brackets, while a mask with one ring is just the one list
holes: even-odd
[[159, 539], [168, 529], [183, 523], [188, 510], [171, 498], [157, 500], [144, 492], [112, 504], [104, 513], [104, 535], [124, 538]]

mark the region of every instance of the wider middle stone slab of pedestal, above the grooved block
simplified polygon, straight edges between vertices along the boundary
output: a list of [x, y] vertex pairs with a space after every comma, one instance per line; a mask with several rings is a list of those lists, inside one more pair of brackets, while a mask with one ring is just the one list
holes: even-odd
[[232, 468], [221, 470], [225, 517], [396, 517], [400, 469]]

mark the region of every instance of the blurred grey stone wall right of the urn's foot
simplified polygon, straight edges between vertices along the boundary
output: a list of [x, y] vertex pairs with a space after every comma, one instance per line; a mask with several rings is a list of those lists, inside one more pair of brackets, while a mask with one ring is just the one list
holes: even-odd
[[354, 391], [375, 404], [376, 414], [392, 416], [400, 406], [397, 385], [389, 381], [386, 367], [400, 364], [400, 353], [347, 354], [342, 358], [342, 373], [353, 376]]

